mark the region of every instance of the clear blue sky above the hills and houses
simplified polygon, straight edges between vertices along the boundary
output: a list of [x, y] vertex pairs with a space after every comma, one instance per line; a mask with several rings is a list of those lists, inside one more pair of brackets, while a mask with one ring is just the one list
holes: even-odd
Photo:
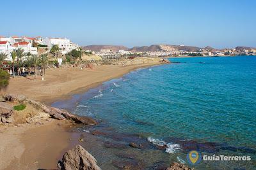
[[256, 47], [254, 0], [1, 1], [0, 36], [84, 45]]

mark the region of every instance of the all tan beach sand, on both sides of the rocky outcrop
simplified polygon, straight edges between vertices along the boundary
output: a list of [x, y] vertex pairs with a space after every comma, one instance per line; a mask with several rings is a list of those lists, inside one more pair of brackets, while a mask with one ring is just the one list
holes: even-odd
[[[134, 69], [156, 64], [162, 63], [47, 69], [44, 81], [40, 76], [36, 80], [33, 76], [11, 78], [5, 92], [51, 104]], [[56, 169], [61, 155], [70, 146], [70, 127], [72, 124], [68, 121], [51, 118], [42, 124], [0, 125], [0, 169]]]

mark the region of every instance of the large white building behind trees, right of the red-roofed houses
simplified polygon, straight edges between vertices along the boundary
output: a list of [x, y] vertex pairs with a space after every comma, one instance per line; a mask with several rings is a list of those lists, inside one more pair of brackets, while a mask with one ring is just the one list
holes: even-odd
[[72, 43], [70, 39], [66, 38], [45, 38], [43, 39], [43, 45], [47, 45], [49, 48], [53, 45], [58, 45], [62, 54], [68, 53], [79, 47], [77, 44]]

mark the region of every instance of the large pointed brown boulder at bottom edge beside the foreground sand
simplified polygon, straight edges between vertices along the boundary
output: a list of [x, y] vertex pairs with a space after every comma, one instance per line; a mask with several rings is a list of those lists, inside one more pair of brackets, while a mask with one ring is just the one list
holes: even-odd
[[66, 170], [100, 170], [97, 160], [81, 145], [68, 150], [63, 155], [61, 169]]

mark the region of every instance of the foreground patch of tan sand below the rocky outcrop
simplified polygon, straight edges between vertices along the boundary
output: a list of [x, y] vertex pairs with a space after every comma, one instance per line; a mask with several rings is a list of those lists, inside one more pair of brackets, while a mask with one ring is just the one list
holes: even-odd
[[5, 127], [0, 133], [0, 169], [56, 169], [68, 147], [70, 123], [51, 119], [44, 125]]

